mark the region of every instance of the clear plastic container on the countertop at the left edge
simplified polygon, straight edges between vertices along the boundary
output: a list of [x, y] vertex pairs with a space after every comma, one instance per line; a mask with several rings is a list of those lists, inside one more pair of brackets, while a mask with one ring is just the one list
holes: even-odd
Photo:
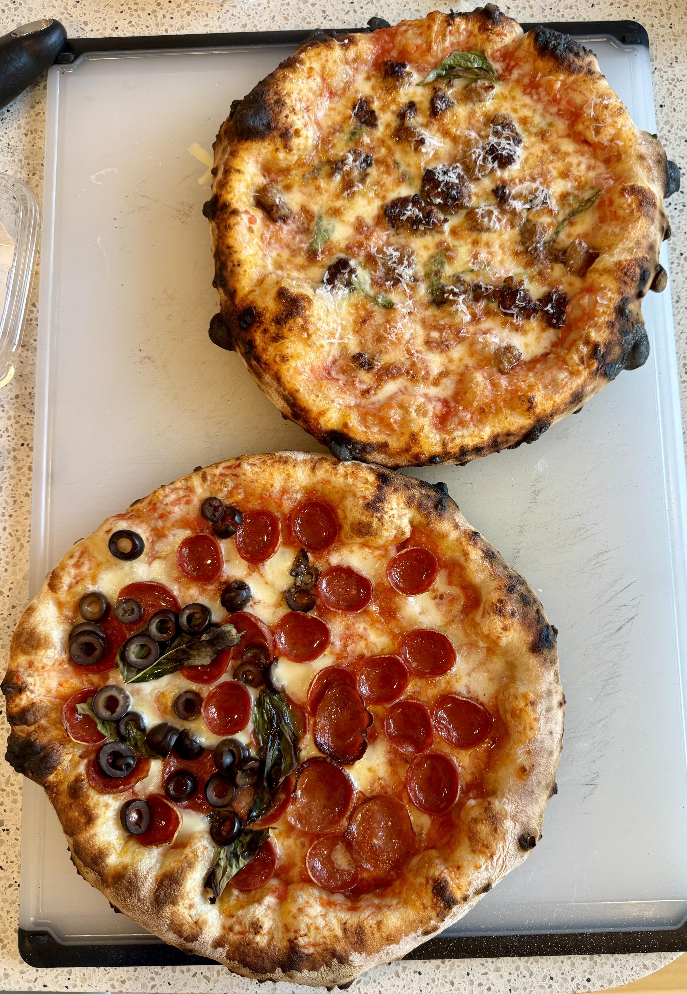
[[17, 368], [40, 228], [38, 201], [29, 187], [0, 173], [0, 390]]

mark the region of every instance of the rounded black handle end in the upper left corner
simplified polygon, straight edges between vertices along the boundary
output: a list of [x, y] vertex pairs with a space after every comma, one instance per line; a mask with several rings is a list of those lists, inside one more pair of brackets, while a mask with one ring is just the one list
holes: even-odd
[[52, 66], [67, 41], [59, 21], [45, 18], [0, 38], [0, 110]]

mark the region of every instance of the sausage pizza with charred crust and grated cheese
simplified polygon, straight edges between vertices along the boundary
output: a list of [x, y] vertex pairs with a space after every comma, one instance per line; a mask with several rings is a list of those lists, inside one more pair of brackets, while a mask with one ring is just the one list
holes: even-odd
[[[464, 95], [469, 81], [417, 84], [455, 50], [481, 50], [496, 68], [486, 102], [465, 109], [476, 100]], [[401, 63], [406, 79], [386, 79], [385, 67]], [[431, 104], [437, 92], [442, 102]], [[361, 93], [376, 121], [356, 117]], [[436, 230], [398, 218], [393, 230], [385, 207], [417, 194], [429, 167], [457, 159], [465, 180], [465, 142], [468, 158], [477, 137], [488, 148], [489, 122], [503, 114], [522, 138], [511, 148], [518, 161], [473, 177], [471, 201]], [[669, 234], [670, 168], [594, 54], [557, 32], [523, 35], [487, 5], [315, 37], [234, 108], [213, 173], [205, 213], [221, 312], [211, 338], [235, 349], [281, 413], [339, 458], [398, 467], [516, 447], [646, 361], [640, 301], [665, 285], [658, 251]], [[554, 239], [558, 261], [544, 257], [571, 206], [590, 195], [598, 201]], [[321, 247], [327, 213], [333, 234]], [[574, 246], [569, 258], [572, 242], [582, 255]], [[453, 270], [440, 305], [427, 275], [439, 252]], [[325, 278], [341, 258], [358, 283], [352, 270]], [[477, 302], [475, 281], [498, 288], [514, 274], [522, 281], [518, 272], [545, 303], [547, 291], [565, 290], [563, 325], [544, 305], [528, 319], [493, 296]], [[327, 278], [339, 282], [332, 289]]]

